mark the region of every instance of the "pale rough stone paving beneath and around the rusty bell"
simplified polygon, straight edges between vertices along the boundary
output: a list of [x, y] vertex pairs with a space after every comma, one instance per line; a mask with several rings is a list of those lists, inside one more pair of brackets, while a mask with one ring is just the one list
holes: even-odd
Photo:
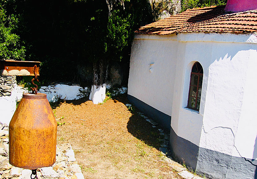
[[[9, 164], [9, 127], [0, 122], [0, 178], [29, 179], [31, 170]], [[70, 144], [57, 145], [56, 162], [52, 167], [37, 169], [37, 179], [84, 179]]]

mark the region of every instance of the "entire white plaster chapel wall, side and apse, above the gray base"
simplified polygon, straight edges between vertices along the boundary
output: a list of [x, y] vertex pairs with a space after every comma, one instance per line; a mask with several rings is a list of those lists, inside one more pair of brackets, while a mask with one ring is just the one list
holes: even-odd
[[[135, 37], [128, 94], [171, 115], [176, 134], [199, 147], [257, 159], [257, 36], [187, 33], [177, 43], [174, 36]], [[160, 66], [163, 53], [173, 54], [172, 69]], [[196, 61], [204, 71], [199, 112], [185, 108]], [[149, 73], [151, 62], [156, 67]]]

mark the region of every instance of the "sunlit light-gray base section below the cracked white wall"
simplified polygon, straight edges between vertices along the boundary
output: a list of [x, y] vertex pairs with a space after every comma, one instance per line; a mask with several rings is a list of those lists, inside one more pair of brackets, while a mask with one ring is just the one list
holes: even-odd
[[234, 157], [200, 147], [196, 172], [206, 173], [210, 178], [257, 179], [256, 162], [254, 159]]

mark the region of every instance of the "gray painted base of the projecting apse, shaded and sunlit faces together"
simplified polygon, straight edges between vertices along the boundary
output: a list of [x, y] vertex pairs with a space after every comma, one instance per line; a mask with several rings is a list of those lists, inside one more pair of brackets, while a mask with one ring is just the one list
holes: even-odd
[[234, 157], [198, 147], [176, 135], [171, 128], [170, 149], [175, 160], [213, 179], [257, 179], [257, 160]]

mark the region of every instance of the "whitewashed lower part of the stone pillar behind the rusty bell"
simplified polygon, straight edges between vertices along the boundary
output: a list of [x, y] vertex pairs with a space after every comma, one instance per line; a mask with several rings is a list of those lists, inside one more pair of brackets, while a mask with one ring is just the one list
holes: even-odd
[[17, 102], [17, 86], [14, 85], [13, 91], [10, 96], [0, 97], [0, 122], [7, 124], [11, 121], [11, 118], [16, 110]]

